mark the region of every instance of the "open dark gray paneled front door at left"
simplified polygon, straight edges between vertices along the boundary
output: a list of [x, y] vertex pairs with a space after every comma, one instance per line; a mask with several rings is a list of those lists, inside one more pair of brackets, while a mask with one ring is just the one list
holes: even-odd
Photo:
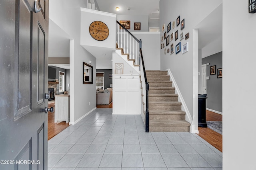
[[48, 0], [1, 0], [0, 170], [47, 169], [47, 65]]

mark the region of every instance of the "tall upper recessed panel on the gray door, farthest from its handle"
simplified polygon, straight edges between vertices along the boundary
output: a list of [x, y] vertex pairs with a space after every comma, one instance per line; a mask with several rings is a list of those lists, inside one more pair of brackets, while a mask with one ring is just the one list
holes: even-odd
[[[26, 1], [25, 1], [26, 2]], [[31, 111], [30, 92], [30, 59], [31, 59], [31, 33], [32, 33], [32, 8], [29, 8], [23, 0], [17, 0], [16, 11], [15, 43], [16, 55], [18, 58], [18, 111], [15, 113], [15, 120]]]

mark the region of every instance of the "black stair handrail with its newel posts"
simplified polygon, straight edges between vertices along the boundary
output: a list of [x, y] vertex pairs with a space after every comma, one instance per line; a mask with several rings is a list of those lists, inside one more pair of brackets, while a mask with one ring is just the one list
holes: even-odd
[[141, 39], [139, 41], [136, 37], [134, 37], [134, 35], [132, 35], [132, 33], [130, 33], [130, 31], [128, 31], [120, 22], [116, 21], [116, 23], [118, 23], [118, 25], [120, 25], [120, 27], [122, 27], [122, 29], [124, 29], [128, 34], [130, 34], [130, 36], [132, 36], [138, 43], [140, 43], [140, 57], [141, 57], [141, 61], [142, 61], [142, 67], [143, 67], [145, 84], [146, 84], [145, 131], [149, 132], [149, 113], [148, 113], [148, 90], [149, 90], [149, 84], [148, 84], [148, 80], [147, 80], [147, 76], [146, 76], [146, 69], [145, 69], [144, 60], [143, 60], [143, 54], [142, 54], [142, 41], [141, 41]]

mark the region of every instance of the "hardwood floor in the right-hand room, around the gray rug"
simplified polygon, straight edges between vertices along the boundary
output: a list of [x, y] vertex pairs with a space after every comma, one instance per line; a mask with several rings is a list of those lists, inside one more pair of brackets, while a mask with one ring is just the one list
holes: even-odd
[[[222, 115], [206, 110], [206, 121], [222, 121]], [[222, 135], [208, 127], [198, 127], [199, 136], [222, 152]]]

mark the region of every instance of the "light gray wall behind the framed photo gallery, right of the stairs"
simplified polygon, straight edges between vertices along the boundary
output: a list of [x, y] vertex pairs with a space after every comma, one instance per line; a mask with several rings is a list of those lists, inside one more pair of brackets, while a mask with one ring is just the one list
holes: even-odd
[[[198, 76], [195, 77], [195, 72], [193, 72], [193, 28], [195, 28], [195, 26], [198, 25], [200, 21], [202, 21], [221, 3], [222, 0], [160, 0], [160, 28], [162, 28], [162, 25], [165, 24], [165, 31], [167, 31], [166, 28], [168, 23], [170, 23], [170, 21], [175, 21], [176, 25], [176, 18], [180, 16], [180, 21], [185, 18], [185, 28], [182, 30], [184, 32], [184, 35], [188, 32], [190, 33], [189, 39], [185, 40], [184, 38], [181, 40], [181, 47], [186, 42], [189, 43], [189, 51], [187, 53], [182, 54], [182, 52], [180, 52], [176, 55], [174, 52], [172, 55], [170, 55], [170, 53], [166, 53], [165, 55], [163, 48], [161, 49], [160, 54], [161, 70], [166, 70], [170, 68], [191, 116], [193, 115], [193, 86], [196, 86], [194, 90], [198, 90]], [[170, 7], [174, 6], [177, 8], [172, 8], [172, 10], [170, 10]], [[170, 32], [167, 33], [167, 36], [170, 35], [170, 33], [175, 32], [177, 29], [178, 34], [180, 35], [182, 31], [180, 30], [179, 25], [178, 27], [175, 26], [174, 29], [171, 28]], [[162, 35], [164, 35], [164, 32], [161, 32], [160, 37]], [[177, 45], [180, 40], [173, 40], [172, 42], [174, 43], [175, 48], [175, 45]], [[170, 42], [170, 44], [172, 42]], [[194, 63], [197, 63], [196, 69], [198, 72], [198, 61]], [[196, 81], [194, 81], [195, 83], [193, 83], [193, 76], [197, 79]], [[195, 99], [197, 99], [197, 96], [194, 95], [194, 100]], [[196, 111], [194, 110], [194, 112]]]

